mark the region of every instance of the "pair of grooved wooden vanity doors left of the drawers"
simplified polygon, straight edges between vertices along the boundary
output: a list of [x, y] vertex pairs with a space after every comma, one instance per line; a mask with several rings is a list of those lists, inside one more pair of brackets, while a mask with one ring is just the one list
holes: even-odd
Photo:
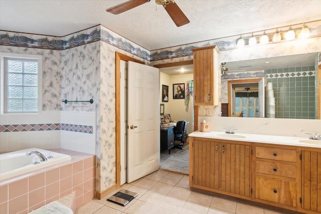
[[250, 164], [249, 143], [190, 138], [192, 187], [248, 199], [251, 183]]

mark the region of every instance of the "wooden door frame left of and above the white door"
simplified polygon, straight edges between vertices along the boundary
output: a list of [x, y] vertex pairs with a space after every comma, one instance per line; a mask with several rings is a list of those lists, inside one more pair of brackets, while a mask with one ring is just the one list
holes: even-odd
[[[120, 60], [145, 64], [142, 61], [115, 52], [115, 132], [116, 132], [116, 188], [120, 187]], [[97, 194], [96, 194], [97, 195]]]

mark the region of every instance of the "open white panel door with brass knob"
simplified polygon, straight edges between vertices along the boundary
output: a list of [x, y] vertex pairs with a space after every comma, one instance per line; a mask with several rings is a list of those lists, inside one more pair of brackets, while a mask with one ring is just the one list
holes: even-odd
[[127, 182], [158, 170], [159, 71], [128, 61]]

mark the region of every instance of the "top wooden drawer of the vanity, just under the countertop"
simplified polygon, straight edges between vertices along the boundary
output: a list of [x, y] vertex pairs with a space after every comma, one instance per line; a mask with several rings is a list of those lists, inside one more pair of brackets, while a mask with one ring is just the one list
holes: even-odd
[[255, 157], [296, 162], [296, 150], [256, 146]]

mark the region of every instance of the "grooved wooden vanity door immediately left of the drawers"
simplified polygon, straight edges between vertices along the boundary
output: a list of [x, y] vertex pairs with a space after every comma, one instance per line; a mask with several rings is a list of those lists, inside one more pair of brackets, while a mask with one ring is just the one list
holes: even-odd
[[251, 146], [221, 143], [221, 190], [250, 196]]

